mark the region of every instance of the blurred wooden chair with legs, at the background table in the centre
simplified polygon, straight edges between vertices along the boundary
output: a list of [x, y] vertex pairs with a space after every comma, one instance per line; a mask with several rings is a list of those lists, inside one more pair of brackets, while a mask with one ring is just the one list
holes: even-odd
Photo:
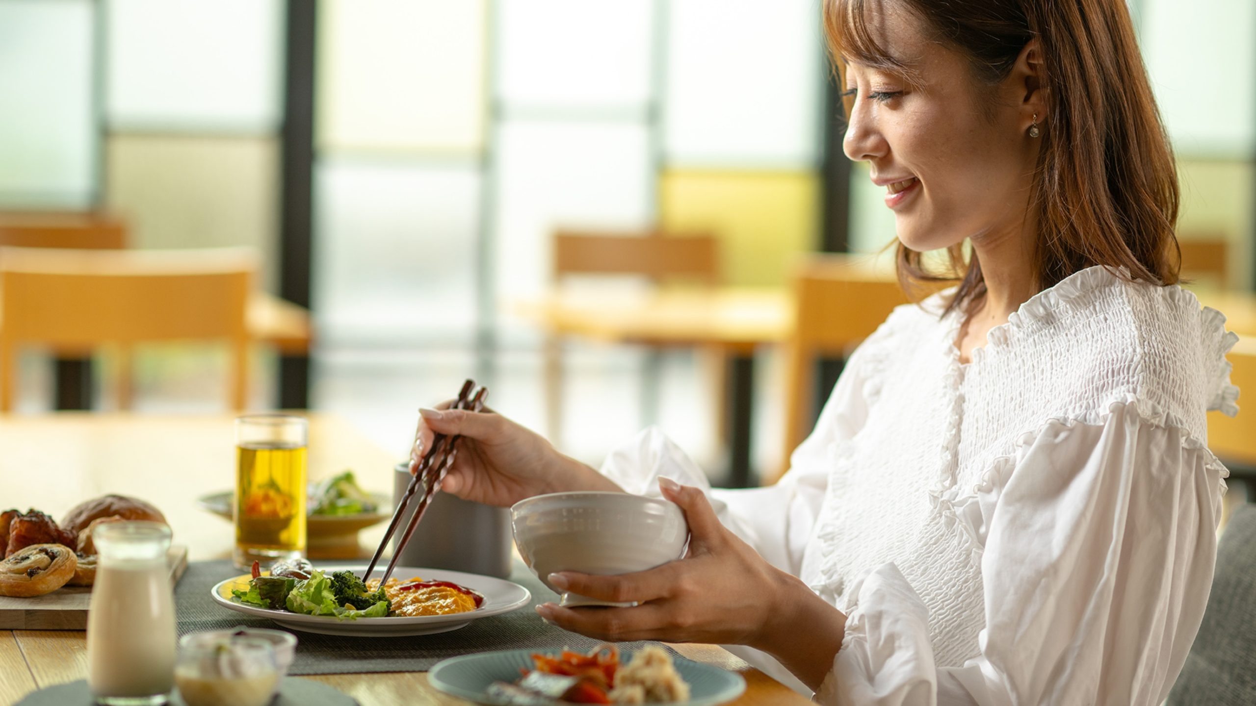
[[[559, 291], [564, 280], [578, 275], [638, 275], [648, 281], [692, 281], [705, 286], [720, 283], [720, 240], [708, 232], [584, 231], [559, 229], [553, 239], [553, 284]], [[722, 354], [716, 364], [717, 410], [722, 406]], [[559, 443], [563, 428], [563, 340], [545, 335], [545, 422], [546, 433]], [[721, 425], [721, 436], [723, 427]]]

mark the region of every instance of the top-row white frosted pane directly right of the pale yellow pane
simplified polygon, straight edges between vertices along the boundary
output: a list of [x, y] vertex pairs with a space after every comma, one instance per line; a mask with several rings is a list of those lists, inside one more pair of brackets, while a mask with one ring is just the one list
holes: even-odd
[[504, 0], [497, 95], [507, 108], [642, 108], [651, 99], [654, 3]]

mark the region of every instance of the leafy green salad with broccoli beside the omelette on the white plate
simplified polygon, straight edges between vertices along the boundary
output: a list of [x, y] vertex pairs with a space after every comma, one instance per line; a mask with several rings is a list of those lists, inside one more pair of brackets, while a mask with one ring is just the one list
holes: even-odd
[[339, 621], [357, 618], [384, 618], [388, 616], [388, 598], [384, 592], [368, 590], [353, 572], [335, 572], [330, 577], [314, 569], [308, 579], [288, 577], [254, 577], [249, 590], [232, 590], [240, 603], [289, 611], [306, 616], [329, 616]]

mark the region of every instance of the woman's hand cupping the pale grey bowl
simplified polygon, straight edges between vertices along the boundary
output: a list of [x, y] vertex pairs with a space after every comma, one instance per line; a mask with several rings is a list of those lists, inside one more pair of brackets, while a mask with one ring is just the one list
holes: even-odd
[[728, 531], [701, 490], [661, 479], [663, 496], [685, 511], [690, 549], [683, 559], [620, 575], [571, 572], [550, 574], [553, 585], [632, 608], [538, 606], [546, 622], [608, 641], [661, 639], [766, 646], [782, 602], [796, 589], [814, 594], [796, 578], [769, 564]]

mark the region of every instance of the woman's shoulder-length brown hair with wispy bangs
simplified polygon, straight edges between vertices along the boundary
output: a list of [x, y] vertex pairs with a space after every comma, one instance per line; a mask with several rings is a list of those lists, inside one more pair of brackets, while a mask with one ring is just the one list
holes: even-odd
[[[1125, 0], [885, 1], [908, 9], [968, 57], [973, 79], [986, 84], [1006, 78], [1037, 38], [1048, 106], [1029, 206], [1039, 226], [1032, 255], [1039, 289], [1093, 265], [1123, 266], [1133, 280], [1178, 281], [1177, 171]], [[839, 80], [845, 59], [906, 69], [869, 31], [868, 11], [865, 0], [824, 1]], [[958, 279], [947, 313], [972, 313], [986, 293], [981, 263], [962, 245], [948, 258], [951, 271], [939, 273], [899, 242], [899, 281], [913, 291]]]

